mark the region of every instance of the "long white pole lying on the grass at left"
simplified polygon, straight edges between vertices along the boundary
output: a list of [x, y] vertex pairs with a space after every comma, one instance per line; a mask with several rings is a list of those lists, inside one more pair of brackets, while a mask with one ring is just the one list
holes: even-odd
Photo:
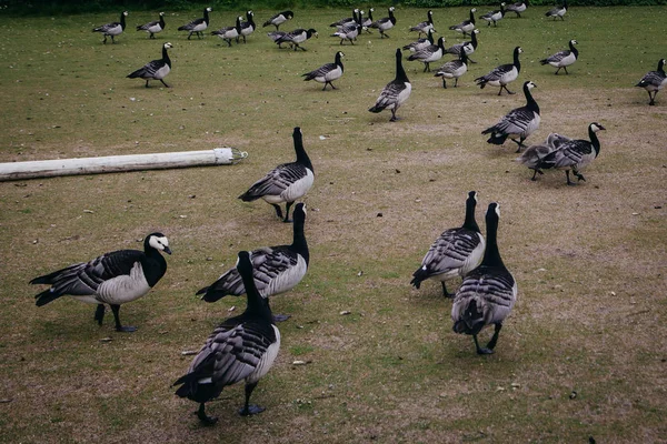
[[153, 154], [107, 155], [101, 158], [56, 159], [0, 163], [0, 182], [57, 175], [115, 173], [201, 165], [229, 165], [248, 153], [236, 148], [206, 151], [181, 151]]

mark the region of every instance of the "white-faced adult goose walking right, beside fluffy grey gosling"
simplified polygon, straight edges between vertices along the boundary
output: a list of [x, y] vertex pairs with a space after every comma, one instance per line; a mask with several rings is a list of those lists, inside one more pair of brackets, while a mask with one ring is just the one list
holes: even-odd
[[565, 170], [568, 185], [575, 185], [569, 179], [569, 172], [577, 176], [577, 181], [586, 182], [586, 178], [579, 172], [585, 169], [600, 153], [600, 141], [597, 138], [597, 132], [604, 130], [605, 127], [597, 122], [588, 125], [588, 140], [570, 140], [560, 145], [558, 150], [547, 154], [541, 162], [538, 163], [538, 169], [557, 169]]

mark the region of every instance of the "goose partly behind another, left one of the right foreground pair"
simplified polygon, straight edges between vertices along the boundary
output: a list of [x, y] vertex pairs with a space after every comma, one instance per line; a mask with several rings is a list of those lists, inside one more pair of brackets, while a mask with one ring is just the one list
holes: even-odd
[[470, 191], [466, 200], [466, 219], [457, 229], [445, 230], [436, 239], [421, 261], [421, 266], [412, 273], [410, 284], [419, 289], [422, 281], [434, 279], [442, 284], [442, 295], [454, 297], [447, 291], [445, 281], [465, 276], [476, 269], [484, 256], [485, 240], [475, 220], [477, 193]]

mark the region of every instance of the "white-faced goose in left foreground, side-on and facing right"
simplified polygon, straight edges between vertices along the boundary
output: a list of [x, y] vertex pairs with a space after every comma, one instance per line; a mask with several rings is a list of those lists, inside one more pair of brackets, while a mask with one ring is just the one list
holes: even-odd
[[34, 303], [42, 306], [69, 295], [81, 302], [97, 304], [94, 320], [99, 325], [104, 319], [104, 304], [109, 304], [116, 320], [116, 331], [133, 332], [137, 327], [120, 323], [120, 305], [146, 295], [162, 279], [167, 261], [161, 251], [171, 254], [169, 241], [162, 233], [150, 233], [143, 240], [143, 251], [118, 250], [34, 278], [31, 284], [51, 285], [34, 296]]

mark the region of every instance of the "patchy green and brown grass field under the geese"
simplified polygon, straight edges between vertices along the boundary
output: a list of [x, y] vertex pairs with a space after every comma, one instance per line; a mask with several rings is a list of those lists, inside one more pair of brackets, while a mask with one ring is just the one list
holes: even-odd
[[[327, 26], [348, 10], [296, 11], [283, 28], [320, 33], [305, 52], [278, 50], [268, 28], [231, 48], [212, 36], [188, 41], [176, 28], [199, 9], [168, 12], [155, 41], [133, 29], [157, 13], [130, 11], [118, 43], [106, 46], [90, 30], [116, 13], [0, 16], [0, 161], [221, 145], [249, 153], [233, 167], [0, 183], [0, 441], [665, 442], [667, 92], [648, 107], [634, 84], [667, 57], [667, 8], [573, 8], [563, 22], [546, 20], [546, 9], [480, 23], [478, 63], [457, 89], [406, 62], [414, 91], [395, 123], [367, 109], [425, 10], [398, 8], [390, 39], [346, 44], [339, 89], [326, 92], [300, 74], [334, 60], [340, 46]], [[270, 13], [256, 11], [256, 21]], [[213, 11], [211, 28], [235, 14]], [[448, 46], [460, 41], [448, 26], [466, 17], [435, 10]], [[569, 75], [538, 63], [570, 39], [580, 60]], [[172, 88], [125, 78], [158, 59], [165, 41]], [[531, 182], [511, 142], [498, 148], [480, 134], [524, 104], [520, 93], [497, 97], [472, 81], [510, 62], [516, 46], [525, 52], [510, 89], [532, 80], [541, 108], [528, 143], [549, 132], [586, 138], [593, 121], [607, 129], [578, 186], [561, 172]], [[253, 393], [267, 411], [239, 417], [237, 385], [208, 406], [220, 422], [202, 427], [196, 404], [170, 385], [191, 360], [181, 352], [198, 350], [245, 301], [207, 304], [195, 292], [239, 250], [290, 242], [291, 225], [268, 204], [236, 198], [293, 159], [297, 125], [316, 172], [306, 198], [311, 263], [299, 286], [272, 300], [292, 317], [279, 324], [280, 354]], [[469, 190], [481, 226], [488, 203], [500, 203], [500, 252], [519, 287], [490, 356], [451, 331], [438, 283], [409, 285], [436, 236], [462, 223]], [[158, 230], [173, 254], [153, 291], [121, 310], [136, 333], [116, 333], [110, 314], [99, 327], [91, 305], [69, 299], [34, 306], [30, 279], [140, 249]]]

